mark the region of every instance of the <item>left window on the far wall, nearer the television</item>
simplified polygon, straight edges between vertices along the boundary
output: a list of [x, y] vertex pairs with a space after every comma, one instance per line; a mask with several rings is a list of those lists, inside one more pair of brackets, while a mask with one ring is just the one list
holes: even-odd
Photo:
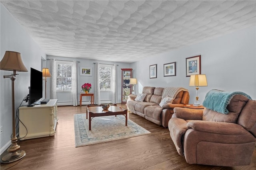
[[71, 91], [72, 89], [72, 62], [56, 61], [56, 90], [57, 91]]

